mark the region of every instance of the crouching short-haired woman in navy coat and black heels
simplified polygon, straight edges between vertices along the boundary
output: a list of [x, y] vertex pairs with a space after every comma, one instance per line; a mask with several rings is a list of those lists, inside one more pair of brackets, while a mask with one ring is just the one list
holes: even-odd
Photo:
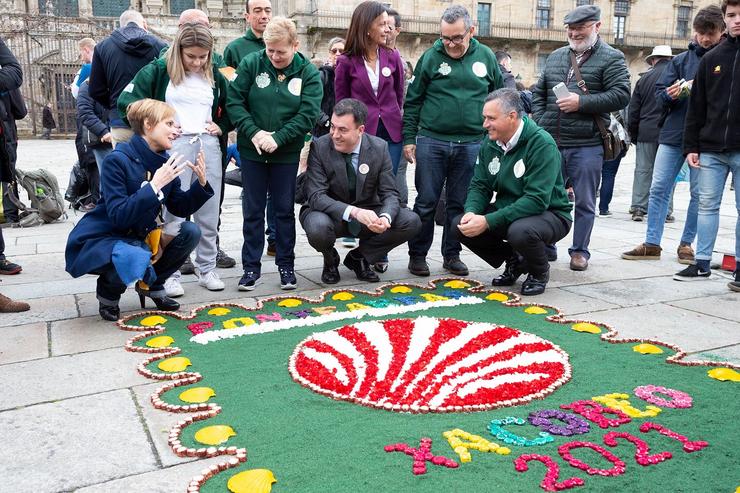
[[[150, 233], [161, 225], [163, 206], [185, 217], [213, 196], [202, 154], [192, 164], [166, 152], [179, 134], [172, 107], [143, 99], [129, 106], [127, 118], [135, 135], [105, 158], [101, 199], [72, 230], [65, 251], [66, 270], [73, 277], [99, 276], [100, 316], [111, 321], [120, 315], [121, 294], [138, 280], [142, 308], [145, 297], [160, 310], [180, 308], [166, 296], [164, 281], [196, 247], [200, 229], [190, 221], [173, 223], [173, 230], [165, 224], [159, 242], [158, 232]], [[198, 185], [185, 192], [178, 176], [186, 167], [198, 177]]]

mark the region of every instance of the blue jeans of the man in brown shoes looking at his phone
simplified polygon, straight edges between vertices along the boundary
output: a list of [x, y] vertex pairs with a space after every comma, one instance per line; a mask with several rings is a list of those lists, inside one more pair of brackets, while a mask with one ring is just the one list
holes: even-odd
[[[645, 243], [660, 245], [673, 187], [683, 162], [683, 152], [679, 146], [667, 144], [658, 146], [658, 153], [655, 155], [655, 165], [653, 166], [653, 181], [650, 185], [650, 198], [648, 199], [648, 229], [645, 235]], [[689, 208], [686, 212], [686, 223], [683, 227], [681, 243], [690, 245], [696, 237], [700, 173], [699, 170], [693, 168], [689, 173], [691, 200], [689, 200]]]

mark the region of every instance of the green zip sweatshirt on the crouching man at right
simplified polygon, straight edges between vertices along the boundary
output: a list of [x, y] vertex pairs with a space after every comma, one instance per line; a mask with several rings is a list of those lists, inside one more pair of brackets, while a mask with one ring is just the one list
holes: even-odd
[[523, 217], [549, 210], [572, 221], [568, 196], [560, 174], [560, 151], [545, 130], [527, 117], [519, 141], [504, 154], [485, 139], [468, 189], [465, 212], [485, 214], [493, 194], [493, 212], [485, 214], [488, 229], [508, 228]]

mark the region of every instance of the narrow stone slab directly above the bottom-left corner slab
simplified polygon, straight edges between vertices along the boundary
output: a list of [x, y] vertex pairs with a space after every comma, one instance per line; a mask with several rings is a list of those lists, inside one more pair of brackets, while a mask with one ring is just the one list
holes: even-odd
[[4, 365], [0, 411], [140, 385], [141, 355], [122, 348]]

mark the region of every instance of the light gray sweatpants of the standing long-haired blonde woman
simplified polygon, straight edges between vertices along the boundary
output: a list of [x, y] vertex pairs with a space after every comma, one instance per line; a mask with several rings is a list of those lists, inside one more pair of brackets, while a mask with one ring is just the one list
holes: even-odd
[[[184, 159], [195, 163], [195, 159], [200, 151], [201, 143], [196, 141], [190, 144], [193, 135], [181, 135], [172, 143], [170, 154], [176, 152], [184, 155]], [[213, 135], [201, 134], [200, 140], [203, 143], [203, 153], [206, 158], [206, 178], [213, 188], [213, 197], [203, 204], [193, 214], [193, 222], [200, 227], [201, 236], [198, 246], [195, 249], [195, 268], [205, 274], [216, 268], [216, 237], [218, 236], [218, 205], [221, 198], [221, 147], [218, 144], [218, 137]], [[189, 190], [190, 184], [198, 179], [190, 168], [180, 175], [181, 187], [183, 190]], [[182, 222], [185, 219], [177, 217], [165, 211], [164, 220], [169, 222]], [[176, 271], [173, 277], [179, 278], [180, 271]]]

